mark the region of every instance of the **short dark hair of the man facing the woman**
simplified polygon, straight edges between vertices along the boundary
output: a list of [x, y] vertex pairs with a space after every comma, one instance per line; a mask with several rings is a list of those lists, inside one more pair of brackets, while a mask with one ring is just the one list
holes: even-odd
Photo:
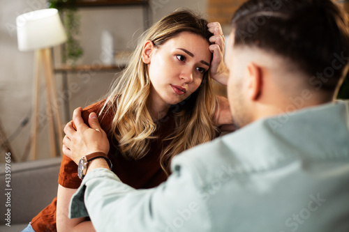
[[334, 93], [349, 57], [349, 20], [330, 0], [250, 0], [232, 17], [235, 46], [293, 61], [317, 90]]

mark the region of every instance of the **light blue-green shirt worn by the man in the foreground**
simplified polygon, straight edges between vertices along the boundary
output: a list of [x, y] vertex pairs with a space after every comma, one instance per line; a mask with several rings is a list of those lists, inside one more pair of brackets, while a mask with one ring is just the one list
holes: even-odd
[[96, 231], [349, 231], [349, 102], [251, 123], [187, 150], [172, 175], [135, 190], [91, 171], [70, 217]]

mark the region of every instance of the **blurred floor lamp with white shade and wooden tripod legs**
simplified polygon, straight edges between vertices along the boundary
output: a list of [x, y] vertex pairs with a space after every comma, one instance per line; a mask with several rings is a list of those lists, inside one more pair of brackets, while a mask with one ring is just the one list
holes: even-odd
[[[16, 18], [18, 49], [35, 51], [33, 116], [31, 127], [31, 155], [37, 158], [38, 119], [40, 109], [40, 79], [45, 73], [46, 115], [50, 132], [52, 156], [57, 156], [56, 132], [61, 150], [63, 133], [59, 119], [57, 93], [54, 84], [51, 47], [66, 41], [66, 33], [57, 9], [35, 10]], [[42, 119], [42, 117], [41, 117]], [[55, 125], [54, 125], [55, 124]], [[55, 130], [56, 129], [56, 130]]]

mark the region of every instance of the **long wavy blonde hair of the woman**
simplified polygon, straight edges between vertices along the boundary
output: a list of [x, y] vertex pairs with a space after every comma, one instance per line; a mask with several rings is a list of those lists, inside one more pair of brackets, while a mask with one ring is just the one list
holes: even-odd
[[[144, 43], [151, 40], [158, 47], [183, 31], [198, 34], [209, 42], [212, 34], [207, 30], [207, 23], [189, 10], [177, 10], [142, 34], [128, 66], [112, 85], [99, 114], [100, 117], [108, 111], [114, 114], [110, 132], [124, 157], [134, 160], [144, 157], [149, 152], [151, 139], [158, 139], [154, 136], [156, 122], [147, 109], [151, 82], [147, 65], [142, 61]], [[170, 109], [175, 128], [165, 138], [169, 145], [163, 148], [160, 156], [161, 167], [166, 173], [169, 173], [174, 155], [216, 137], [217, 130], [212, 121], [216, 102], [207, 71], [198, 90]]]

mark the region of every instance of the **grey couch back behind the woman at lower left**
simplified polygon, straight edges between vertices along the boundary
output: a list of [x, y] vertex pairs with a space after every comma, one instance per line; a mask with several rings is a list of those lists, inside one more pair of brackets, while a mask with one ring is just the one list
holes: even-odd
[[[10, 222], [27, 224], [57, 196], [61, 157], [29, 162], [10, 163], [10, 187], [6, 186], [6, 167], [0, 164], [0, 225], [6, 224], [10, 209]], [[8, 173], [7, 173], [8, 174]], [[7, 179], [8, 180], [8, 179]], [[10, 190], [6, 190], [10, 189]], [[8, 194], [10, 193], [10, 194]], [[7, 194], [7, 195], [6, 195]]]

